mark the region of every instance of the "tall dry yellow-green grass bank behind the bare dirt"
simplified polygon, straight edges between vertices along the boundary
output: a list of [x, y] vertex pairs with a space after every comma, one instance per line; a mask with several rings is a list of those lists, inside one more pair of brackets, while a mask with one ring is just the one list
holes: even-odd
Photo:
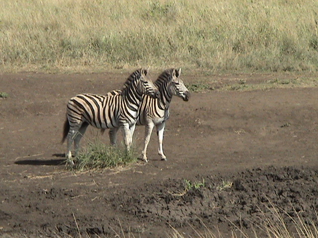
[[316, 71], [316, 0], [0, 0], [3, 70]]

